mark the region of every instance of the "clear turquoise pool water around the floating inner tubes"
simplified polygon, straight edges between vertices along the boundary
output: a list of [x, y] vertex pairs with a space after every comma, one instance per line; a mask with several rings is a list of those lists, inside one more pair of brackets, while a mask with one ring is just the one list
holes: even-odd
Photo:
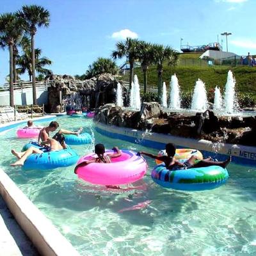
[[[98, 134], [90, 119], [61, 117], [58, 122], [64, 129], [84, 127], [107, 148], [156, 153]], [[256, 255], [256, 168], [230, 164], [230, 178], [221, 188], [183, 192], [155, 184], [150, 178], [154, 161], [147, 158], [144, 179], [119, 191], [78, 180], [74, 166], [49, 172], [11, 168], [11, 148], [27, 142], [15, 131], [0, 134], [1, 168], [81, 255]], [[72, 148], [83, 156], [93, 145]]]

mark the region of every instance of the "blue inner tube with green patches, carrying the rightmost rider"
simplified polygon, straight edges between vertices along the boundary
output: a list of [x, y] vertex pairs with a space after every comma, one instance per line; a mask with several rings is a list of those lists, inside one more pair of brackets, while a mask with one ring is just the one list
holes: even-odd
[[228, 179], [227, 169], [212, 165], [170, 171], [164, 164], [154, 167], [151, 177], [160, 186], [187, 191], [200, 191], [218, 188]]

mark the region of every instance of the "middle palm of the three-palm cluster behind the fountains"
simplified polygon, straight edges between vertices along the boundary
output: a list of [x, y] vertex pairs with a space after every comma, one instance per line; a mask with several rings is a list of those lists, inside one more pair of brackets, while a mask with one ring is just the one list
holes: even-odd
[[141, 63], [141, 69], [143, 71], [144, 93], [147, 92], [147, 70], [149, 65], [154, 63], [153, 53], [152, 44], [145, 41], [140, 41], [138, 46], [138, 59]]

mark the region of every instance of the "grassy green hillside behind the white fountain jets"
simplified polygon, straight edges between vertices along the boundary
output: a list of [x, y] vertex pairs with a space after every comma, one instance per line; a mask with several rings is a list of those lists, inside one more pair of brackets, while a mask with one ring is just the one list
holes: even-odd
[[[179, 79], [180, 88], [183, 92], [193, 90], [198, 78], [204, 81], [207, 91], [218, 85], [222, 90], [227, 82], [228, 70], [232, 70], [236, 78], [237, 92], [252, 93], [256, 96], [256, 68], [254, 67], [168, 67], [163, 68], [163, 81], [169, 86], [171, 76], [176, 74]], [[141, 68], [135, 68], [134, 74], [138, 76], [140, 84], [143, 84], [143, 73]], [[129, 81], [129, 74], [124, 76]], [[157, 70], [152, 66], [148, 68], [148, 84], [156, 86]]]

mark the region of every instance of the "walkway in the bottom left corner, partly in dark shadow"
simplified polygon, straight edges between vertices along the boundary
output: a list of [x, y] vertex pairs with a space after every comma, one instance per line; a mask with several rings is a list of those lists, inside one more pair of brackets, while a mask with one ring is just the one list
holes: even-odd
[[39, 256], [0, 195], [0, 255]]

